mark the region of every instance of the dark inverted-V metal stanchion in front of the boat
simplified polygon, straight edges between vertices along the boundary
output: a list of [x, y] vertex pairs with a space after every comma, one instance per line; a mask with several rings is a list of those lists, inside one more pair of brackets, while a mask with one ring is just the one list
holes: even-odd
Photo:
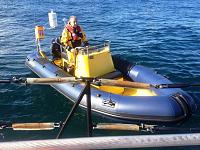
[[63, 131], [66, 127], [66, 125], [68, 124], [68, 122], [70, 121], [72, 115], [74, 114], [74, 112], [76, 111], [76, 109], [78, 108], [78, 105], [80, 104], [83, 96], [86, 94], [87, 95], [87, 129], [88, 129], [88, 137], [92, 136], [92, 116], [91, 116], [91, 91], [90, 91], [90, 83], [91, 83], [91, 79], [88, 78], [83, 78], [86, 85], [84, 87], [84, 89], [81, 91], [77, 101], [75, 102], [75, 104], [73, 105], [69, 115], [67, 116], [67, 118], [65, 119], [65, 121], [63, 122], [63, 125], [56, 137], [56, 139], [59, 139], [62, 134]]

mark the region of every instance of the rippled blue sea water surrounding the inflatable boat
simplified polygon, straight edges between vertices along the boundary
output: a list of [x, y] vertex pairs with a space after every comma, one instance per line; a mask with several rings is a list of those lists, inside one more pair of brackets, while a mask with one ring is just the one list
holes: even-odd
[[[200, 83], [199, 0], [0, 0], [0, 78], [36, 77], [24, 64], [35, 50], [34, 27], [44, 25], [42, 48], [60, 35], [63, 18], [76, 15], [91, 43], [111, 41], [113, 54], [155, 69], [175, 83]], [[48, 12], [58, 15], [50, 30]], [[200, 105], [200, 89], [185, 89]], [[12, 122], [63, 121], [72, 103], [48, 86], [0, 85], [0, 120]], [[109, 119], [94, 115], [94, 122]], [[85, 111], [79, 109], [64, 137], [86, 135]], [[183, 127], [199, 127], [200, 111]], [[55, 138], [54, 131], [1, 130], [2, 141]], [[95, 131], [94, 136], [134, 135]], [[161, 148], [169, 149], [169, 148]], [[199, 149], [180, 147], [180, 149]]]

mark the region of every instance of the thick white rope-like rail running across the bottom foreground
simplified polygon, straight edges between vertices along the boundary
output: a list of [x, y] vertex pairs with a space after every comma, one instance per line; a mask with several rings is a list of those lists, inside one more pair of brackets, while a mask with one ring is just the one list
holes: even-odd
[[[83, 150], [200, 145], [200, 133], [0, 142], [2, 150]], [[187, 148], [186, 148], [187, 149]], [[197, 148], [198, 149], [198, 148]]]

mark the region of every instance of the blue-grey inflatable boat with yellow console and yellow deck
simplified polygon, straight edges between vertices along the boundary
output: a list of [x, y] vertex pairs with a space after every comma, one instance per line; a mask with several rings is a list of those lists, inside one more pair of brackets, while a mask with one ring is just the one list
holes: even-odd
[[[109, 43], [91, 48], [79, 47], [74, 68], [66, 53], [50, 59], [35, 51], [26, 58], [26, 65], [39, 77], [89, 77], [149, 84], [172, 84], [152, 69], [112, 56]], [[76, 102], [84, 83], [52, 84], [65, 97]], [[86, 96], [80, 106], [86, 108]], [[188, 119], [196, 109], [194, 100], [180, 88], [127, 88], [91, 85], [93, 112], [128, 122], [178, 123]]]

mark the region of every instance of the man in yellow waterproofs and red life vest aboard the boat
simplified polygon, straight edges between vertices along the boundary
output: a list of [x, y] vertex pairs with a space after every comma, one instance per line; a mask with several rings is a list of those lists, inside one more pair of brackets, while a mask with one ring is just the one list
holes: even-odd
[[68, 61], [71, 64], [75, 63], [75, 55], [77, 53], [75, 48], [82, 45], [88, 46], [86, 34], [78, 25], [76, 16], [70, 16], [68, 24], [63, 29], [61, 44], [67, 50]]

